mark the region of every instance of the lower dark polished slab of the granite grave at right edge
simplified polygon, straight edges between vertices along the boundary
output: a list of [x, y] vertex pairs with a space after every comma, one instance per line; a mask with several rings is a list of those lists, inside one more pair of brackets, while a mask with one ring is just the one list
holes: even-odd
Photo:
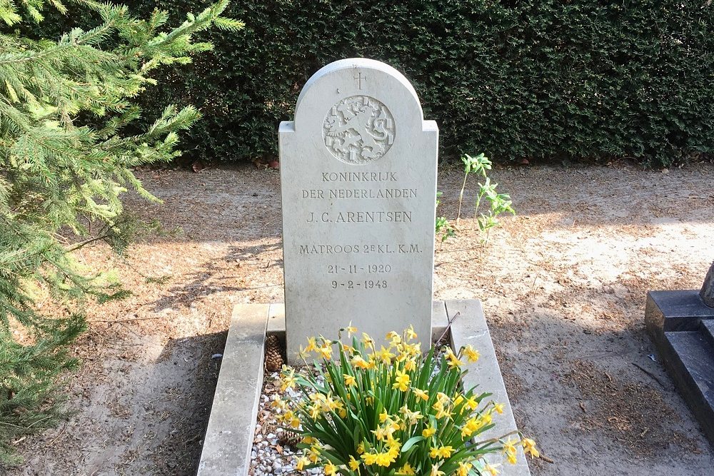
[[708, 440], [714, 444], [714, 348], [704, 327], [665, 333], [665, 368]]

